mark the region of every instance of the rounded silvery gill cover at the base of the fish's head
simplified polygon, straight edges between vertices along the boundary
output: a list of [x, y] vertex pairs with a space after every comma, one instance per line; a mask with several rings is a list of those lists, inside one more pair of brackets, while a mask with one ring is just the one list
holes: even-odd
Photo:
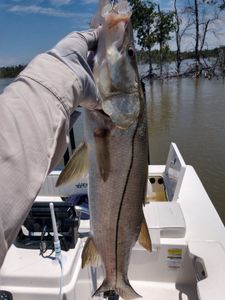
[[104, 114], [120, 129], [128, 129], [140, 114], [139, 94], [112, 93], [102, 101]]

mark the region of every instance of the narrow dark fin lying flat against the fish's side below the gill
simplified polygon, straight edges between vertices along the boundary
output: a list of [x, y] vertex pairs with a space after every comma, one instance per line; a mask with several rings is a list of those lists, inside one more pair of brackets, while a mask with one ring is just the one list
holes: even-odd
[[94, 132], [96, 158], [99, 167], [100, 175], [105, 182], [109, 176], [110, 156], [108, 149], [109, 130], [97, 128]]

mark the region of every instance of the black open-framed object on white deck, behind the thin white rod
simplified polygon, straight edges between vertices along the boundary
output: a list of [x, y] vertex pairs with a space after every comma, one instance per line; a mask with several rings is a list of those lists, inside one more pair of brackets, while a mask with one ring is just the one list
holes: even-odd
[[[74, 248], [78, 238], [79, 217], [75, 207], [68, 202], [54, 202], [57, 229], [61, 249]], [[43, 254], [54, 250], [54, 237], [49, 202], [34, 202], [21, 230], [15, 246], [25, 249], [39, 249]]]

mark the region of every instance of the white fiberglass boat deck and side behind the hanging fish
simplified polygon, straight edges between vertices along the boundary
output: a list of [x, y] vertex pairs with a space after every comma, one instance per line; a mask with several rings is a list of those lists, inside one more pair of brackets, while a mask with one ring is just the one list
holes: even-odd
[[[163, 177], [165, 168], [150, 166], [149, 177]], [[193, 167], [185, 166], [182, 180], [177, 182], [171, 192], [176, 199], [152, 202], [144, 208], [153, 252], [135, 245], [129, 267], [130, 282], [143, 300], [223, 300], [223, 223]], [[152, 184], [151, 198], [162, 198], [163, 189], [157, 182]], [[49, 200], [46, 196], [40, 199]], [[51, 200], [61, 201], [57, 195]], [[88, 230], [89, 221], [81, 221], [80, 232]], [[93, 299], [91, 295], [102, 281], [101, 266], [81, 269], [83, 244], [78, 239], [74, 249], [63, 251], [64, 300]], [[38, 250], [18, 249], [13, 245], [0, 271], [0, 288], [11, 291], [15, 300], [56, 300], [60, 299], [60, 276], [55, 261], [42, 258]]]

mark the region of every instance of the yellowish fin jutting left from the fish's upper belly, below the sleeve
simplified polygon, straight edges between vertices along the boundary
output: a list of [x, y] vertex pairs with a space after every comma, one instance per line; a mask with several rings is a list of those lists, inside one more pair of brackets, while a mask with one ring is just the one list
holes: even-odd
[[56, 182], [56, 187], [70, 183], [72, 181], [77, 181], [80, 178], [86, 176], [88, 173], [88, 151], [87, 145], [81, 143], [73, 155], [71, 156], [65, 169], [59, 175]]

